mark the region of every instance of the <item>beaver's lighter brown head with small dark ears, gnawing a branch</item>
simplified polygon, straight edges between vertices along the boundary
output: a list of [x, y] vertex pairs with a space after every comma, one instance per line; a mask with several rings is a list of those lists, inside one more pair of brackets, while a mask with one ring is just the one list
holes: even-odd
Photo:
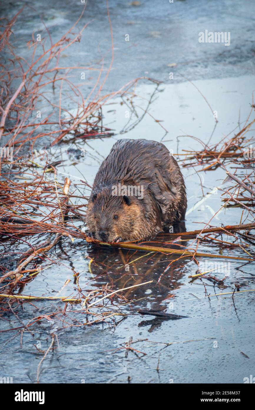
[[[104, 242], [142, 239], [151, 235], [151, 221], [144, 216], [142, 200], [134, 196], [113, 196], [111, 189], [93, 191], [88, 201], [90, 236]], [[149, 235], [145, 235], [145, 232]]]

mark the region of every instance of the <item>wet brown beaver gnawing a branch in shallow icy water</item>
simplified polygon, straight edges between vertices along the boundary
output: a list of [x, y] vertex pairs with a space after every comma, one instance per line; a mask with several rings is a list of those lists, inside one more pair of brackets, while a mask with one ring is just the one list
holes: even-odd
[[104, 242], [148, 240], [183, 221], [183, 175], [169, 150], [147, 139], [120, 139], [102, 162], [88, 200], [88, 236]]

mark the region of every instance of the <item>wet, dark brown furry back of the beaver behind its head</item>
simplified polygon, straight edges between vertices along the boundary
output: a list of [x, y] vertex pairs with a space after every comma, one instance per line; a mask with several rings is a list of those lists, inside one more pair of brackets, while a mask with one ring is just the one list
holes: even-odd
[[[187, 208], [185, 184], [181, 170], [168, 149], [147, 139], [120, 139], [102, 162], [93, 191], [122, 185], [143, 185], [170, 220], [177, 211], [177, 220], [184, 219]], [[170, 204], [170, 205], [169, 205]]]

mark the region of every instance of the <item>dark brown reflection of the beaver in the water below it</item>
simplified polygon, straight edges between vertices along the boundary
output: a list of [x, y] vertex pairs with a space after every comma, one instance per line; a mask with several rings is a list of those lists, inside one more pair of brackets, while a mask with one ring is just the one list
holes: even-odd
[[[164, 242], [170, 240], [169, 235], [163, 233], [160, 235], [160, 243], [157, 239], [158, 237], [147, 244], [166, 246]], [[178, 246], [171, 244], [171, 248], [178, 248]], [[126, 305], [127, 309], [135, 312], [139, 309], [151, 309], [158, 312], [183, 313], [178, 311], [178, 299], [174, 298], [174, 291], [183, 285], [181, 281], [182, 271], [185, 263], [190, 261], [189, 257], [176, 261], [179, 256], [176, 254], [165, 255], [155, 252], [131, 251], [124, 248], [99, 248], [95, 245], [90, 245], [88, 255], [95, 261], [93, 264], [95, 282], [92, 282], [95, 286], [109, 283], [115, 290], [152, 280], [149, 284], [127, 289], [121, 293], [126, 301], [133, 301], [130, 305]], [[119, 296], [114, 297], [118, 298]], [[174, 301], [174, 311], [169, 310], [169, 302], [172, 301]], [[164, 320], [169, 320], [169, 318], [141, 316], [139, 326], [151, 325], [152, 331], [159, 327]]]

